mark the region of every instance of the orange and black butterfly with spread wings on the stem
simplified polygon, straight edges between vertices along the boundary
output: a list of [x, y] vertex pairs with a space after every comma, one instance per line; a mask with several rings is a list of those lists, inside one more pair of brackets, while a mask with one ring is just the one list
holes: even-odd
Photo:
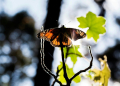
[[37, 34], [40, 39], [45, 39], [51, 43], [54, 47], [60, 47], [60, 41], [62, 41], [63, 46], [70, 46], [72, 44], [71, 40], [78, 40], [80, 38], [86, 37], [86, 34], [78, 29], [74, 28], [51, 28], [41, 31]]

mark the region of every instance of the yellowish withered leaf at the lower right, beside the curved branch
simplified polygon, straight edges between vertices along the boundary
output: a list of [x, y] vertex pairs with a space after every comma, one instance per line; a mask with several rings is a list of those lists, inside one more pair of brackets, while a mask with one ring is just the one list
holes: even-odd
[[100, 63], [101, 63], [101, 67], [103, 67], [102, 70], [98, 70], [98, 69], [92, 69], [91, 71], [94, 73], [94, 77], [93, 80], [95, 82], [101, 83], [100, 86], [108, 86], [108, 80], [111, 76], [111, 71], [108, 67], [107, 64], [107, 57], [104, 56], [104, 60], [99, 59]]

